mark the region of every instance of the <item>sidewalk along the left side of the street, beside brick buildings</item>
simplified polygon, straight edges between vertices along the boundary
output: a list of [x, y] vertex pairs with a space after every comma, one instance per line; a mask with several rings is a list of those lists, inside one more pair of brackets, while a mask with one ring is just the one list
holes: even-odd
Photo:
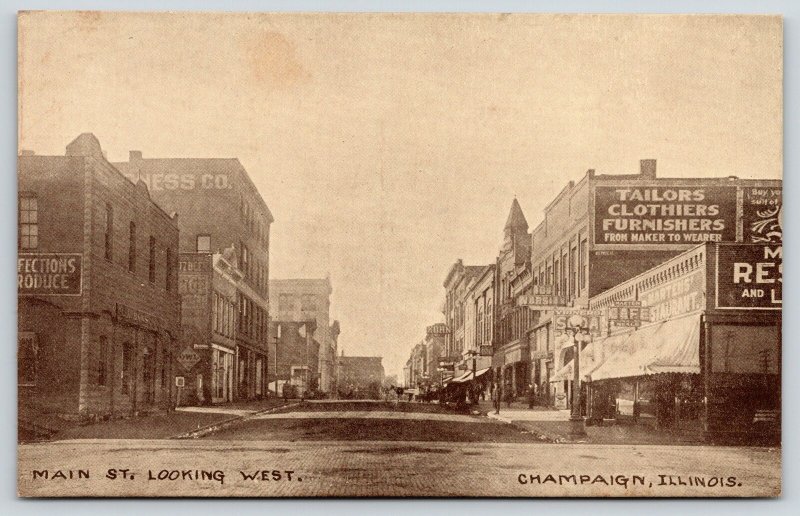
[[[273, 398], [205, 407], [178, 407], [172, 412], [154, 412], [88, 424], [51, 417], [47, 421], [50, 435], [44, 439], [32, 440], [169, 439], [285, 404], [283, 399]], [[21, 439], [27, 440], [29, 439]]]

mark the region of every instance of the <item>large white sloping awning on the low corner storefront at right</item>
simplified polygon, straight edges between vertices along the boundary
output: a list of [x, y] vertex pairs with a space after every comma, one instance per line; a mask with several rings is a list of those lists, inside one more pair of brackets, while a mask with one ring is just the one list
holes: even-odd
[[591, 372], [592, 381], [657, 373], [700, 373], [700, 315], [634, 331], [620, 349]]

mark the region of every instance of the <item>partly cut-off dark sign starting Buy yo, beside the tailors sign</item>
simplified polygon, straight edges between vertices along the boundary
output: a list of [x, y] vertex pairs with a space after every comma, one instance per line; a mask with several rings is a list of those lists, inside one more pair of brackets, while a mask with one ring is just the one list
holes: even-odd
[[745, 188], [742, 200], [742, 232], [745, 243], [783, 241], [783, 189]]

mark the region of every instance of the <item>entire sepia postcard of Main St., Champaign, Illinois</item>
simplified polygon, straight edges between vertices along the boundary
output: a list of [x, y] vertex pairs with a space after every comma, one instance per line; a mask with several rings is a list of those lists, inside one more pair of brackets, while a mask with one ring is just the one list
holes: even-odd
[[780, 496], [780, 16], [18, 31], [19, 496]]

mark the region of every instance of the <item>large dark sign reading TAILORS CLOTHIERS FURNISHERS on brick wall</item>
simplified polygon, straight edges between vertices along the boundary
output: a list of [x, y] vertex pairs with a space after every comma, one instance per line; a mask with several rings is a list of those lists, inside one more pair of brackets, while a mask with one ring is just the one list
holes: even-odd
[[736, 241], [735, 186], [597, 186], [595, 245]]

